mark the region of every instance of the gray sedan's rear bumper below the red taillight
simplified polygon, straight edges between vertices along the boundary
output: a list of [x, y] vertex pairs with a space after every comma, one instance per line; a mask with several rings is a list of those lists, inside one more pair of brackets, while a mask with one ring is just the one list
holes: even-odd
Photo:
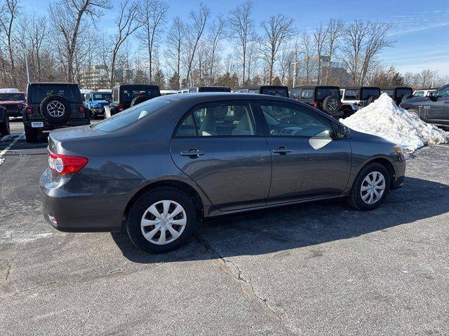
[[[82, 174], [58, 178], [53, 179], [53, 172], [46, 169], [39, 186], [45, 220], [63, 232], [120, 231], [130, 190], [140, 183], [140, 180], [103, 180], [91, 181], [87, 186]], [[50, 217], [55, 217], [55, 221]]]

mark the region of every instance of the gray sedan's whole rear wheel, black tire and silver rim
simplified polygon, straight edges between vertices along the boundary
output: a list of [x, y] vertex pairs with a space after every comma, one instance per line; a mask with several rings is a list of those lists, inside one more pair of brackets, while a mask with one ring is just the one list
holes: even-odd
[[192, 200], [181, 190], [158, 188], [140, 197], [131, 207], [126, 231], [142, 250], [172, 251], [185, 244], [196, 226]]

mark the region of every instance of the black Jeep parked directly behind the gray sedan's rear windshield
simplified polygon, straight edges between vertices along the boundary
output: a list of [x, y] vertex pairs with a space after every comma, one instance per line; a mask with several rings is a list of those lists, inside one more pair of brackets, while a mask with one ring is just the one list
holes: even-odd
[[114, 114], [125, 111], [130, 106], [135, 106], [149, 99], [159, 97], [161, 91], [157, 85], [147, 84], [121, 84], [112, 89], [112, 97], [109, 105], [103, 106], [105, 109], [105, 118], [114, 116]]

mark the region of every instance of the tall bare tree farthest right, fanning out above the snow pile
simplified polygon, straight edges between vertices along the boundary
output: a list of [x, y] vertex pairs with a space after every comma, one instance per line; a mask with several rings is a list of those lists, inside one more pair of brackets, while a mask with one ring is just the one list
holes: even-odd
[[363, 48], [363, 63], [360, 74], [360, 85], [365, 82], [369, 66], [382, 49], [391, 47], [394, 42], [387, 39], [387, 32], [391, 29], [390, 22], [368, 22], [368, 33]]

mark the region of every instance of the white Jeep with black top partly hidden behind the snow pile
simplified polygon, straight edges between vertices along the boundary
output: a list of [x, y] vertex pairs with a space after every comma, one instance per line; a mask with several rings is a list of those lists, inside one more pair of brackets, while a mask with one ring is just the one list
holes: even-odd
[[380, 96], [380, 87], [345, 87], [340, 89], [344, 118], [368, 106]]

